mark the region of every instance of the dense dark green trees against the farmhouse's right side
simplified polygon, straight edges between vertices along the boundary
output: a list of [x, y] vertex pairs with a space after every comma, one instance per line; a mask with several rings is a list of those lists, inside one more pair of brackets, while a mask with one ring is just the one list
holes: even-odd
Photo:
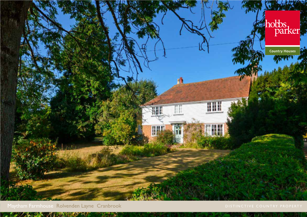
[[231, 104], [227, 125], [236, 145], [264, 134], [307, 133], [307, 86], [290, 79], [296, 65], [265, 72], [253, 82], [248, 102]]

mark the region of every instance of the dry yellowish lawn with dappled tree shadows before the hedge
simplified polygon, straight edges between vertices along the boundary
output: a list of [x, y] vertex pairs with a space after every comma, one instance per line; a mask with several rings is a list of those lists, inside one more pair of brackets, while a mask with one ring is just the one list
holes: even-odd
[[39, 195], [61, 200], [125, 200], [136, 188], [161, 182], [176, 172], [227, 153], [228, 150], [178, 149], [162, 156], [144, 157], [90, 172], [58, 170], [31, 185]]

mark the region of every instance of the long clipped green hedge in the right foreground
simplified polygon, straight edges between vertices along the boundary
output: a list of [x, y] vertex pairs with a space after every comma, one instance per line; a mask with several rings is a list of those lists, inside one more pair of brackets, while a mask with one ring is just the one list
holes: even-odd
[[226, 157], [139, 188], [132, 200], [306, 200], [305, 169], [292, 137], [268, 134]]

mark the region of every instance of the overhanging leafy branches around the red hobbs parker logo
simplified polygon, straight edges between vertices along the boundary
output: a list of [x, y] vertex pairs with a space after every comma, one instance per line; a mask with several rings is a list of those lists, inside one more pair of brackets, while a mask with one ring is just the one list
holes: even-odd
[[[255, 50], [254, 43], [262, 44], [265, 40], [265, 11], [266, 10], [300, 10], [300, 35], [305, 36], [307, 33], [307, 2], [290, 1], [290, 2], [276, 2], [276, 1], [243, 1], [242, 8], [245, 13], [254, 13], [256, 21], [252, 24], [251, 34], [245, 40], [240, 41], [240, 44], [232, 49], [232, 62], [234, 64], [247, 64], [246, 66], [236, 70], [236, 73], [243, 78], [244, 76], [255, 73], [253, 68], [258, 66], [258, 71], [262, 71], [260, 61], [264, 58], [262, 50]], [[265, 10], [264, 10], [265, 9]], [[256, 39], [256, 40], [255, 40]], [[282, 60], [293, 59], [293, 55], [275, 55], [273, 57], [276, 63]], [[297, 57], [299, 61], [293, 68], [291, 68], [290, 78], [293, 79], [295, 85], [307, 83], [307, 48], [301, 47], [300, 55]]]

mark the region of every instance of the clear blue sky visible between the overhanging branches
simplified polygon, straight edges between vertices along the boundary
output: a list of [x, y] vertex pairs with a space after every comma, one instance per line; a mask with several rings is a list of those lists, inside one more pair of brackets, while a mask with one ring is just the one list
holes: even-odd
[[[250, 34], [252, 24], [255, 21], [255, 14], [245, 14], [245, 10], [241, 8], [241, 1], [230, 1], [233, 9], [226, 12], [226, 17], [219, 29], [212, 33], [212, 38], [209, 43], [210, 52], [199, 51], [196, 48], [183, 48], [166, 50], [166, 58], [163, 57], [163, 52], [157, 52], [159, 59], [150, 63], [150, 69], [143, 67], [143, 73], [140, 74], [141, 79], [152, 79], [158, 85], [158, 94], [171, 88], [177, 83], [177, 78], [183, 77], [184, 83], [199, 82], [210, 79], [224, 78], [229, 76], [235, 76], [234, 72], [240, 68], [240, 65], [234, 65], [232, 63], [231, 49], [238, 44], [228, 45], [215, 45], [223, 43], [239, 42], [245, 39]], [[199, 4], [200, 6], [200, 4]], [[181, 17], [191, 19], [195, 21], [195, 24], [200, 20], [200, 7], [192, 9], [196, 14], [192, 14], [189, 10], [180, 10], [178, 13]], [[210, 9], [206, 11], [207, 24], [210, 21]], [[165, 48], [179, 48], [198, 46], [201, 38], [195, 34], [189, 33], [186, 30], [182, 31], [182, 35], [179, 35], [181, 28], [181, 21], [178, 20], [175, 15], [168, 13], [163, 23], [161, 24], [161, 17], [163, 14], [159, 14], [156, 23], [160, 26], [160, 37], [162, 38]], [[107, 24], [110, 27], [110, 34], [114, 36], [116, 29], [112, 22], [111, 17], [106, 16]], [[69, 20], [66, 15], [59, 14], [58, 21], [67, 29], [70, 25], [74, 24], [73, 20]], [[212, 45], [212, 46], [210, 46]], [[301, 47], [307, 45], [307, 37], [301, 37]], [[147, 49], [153, 50], [154, 41], [150, 42]], [[262, 44], [264, 48], [264, 44]], [[161, 49], [159, 45], [157, 49]], [[258, 43], [256, 43], [256, 49], [260, 49]], [[264, 50], [263, 50], [264, 52]], [[149, 55], [154, 55], [154, 52], [148, 52]], [[152, 56], [153, 57], [153, 56]], [[290, 65], [292, 62], [297, 61], [297, 56], [288, 61], [282, 61], [276, 64], [273, 60], [274, 56], [265, 56], [262, 61], [262, 69], [264, 71], [271, 71], [274, 68], [283, 67], [284, 65]], [[153, 58], [152, 58], [153, 59]], [[143, 61], [140, 61], [143, 62]], [[127, 74], [122, 72], [123, 76]]]

